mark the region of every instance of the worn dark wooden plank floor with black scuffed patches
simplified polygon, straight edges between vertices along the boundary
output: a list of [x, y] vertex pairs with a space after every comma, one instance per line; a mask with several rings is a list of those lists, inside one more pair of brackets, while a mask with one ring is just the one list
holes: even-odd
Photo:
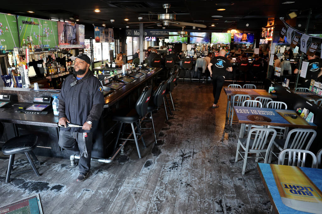
[[163, 109], [154, 114], [157, 144], [151, 130], [144, 133], [142, 159], [128, 143], [127, 156], [92, 163], [81, 183], [68, 160], [40, 156], [42, 176], [15, 174], [6, 184], [8, 159], [0, 152], [0, 206], [39, 193], [44, 213], [270, 213], [254, 160], [244, 176], [242, 159], [235, 163], [240, 125], [225, 123], [225, 93], [218, 109], [211, 84], [179, 84], [173, 96], [168, 121]]

